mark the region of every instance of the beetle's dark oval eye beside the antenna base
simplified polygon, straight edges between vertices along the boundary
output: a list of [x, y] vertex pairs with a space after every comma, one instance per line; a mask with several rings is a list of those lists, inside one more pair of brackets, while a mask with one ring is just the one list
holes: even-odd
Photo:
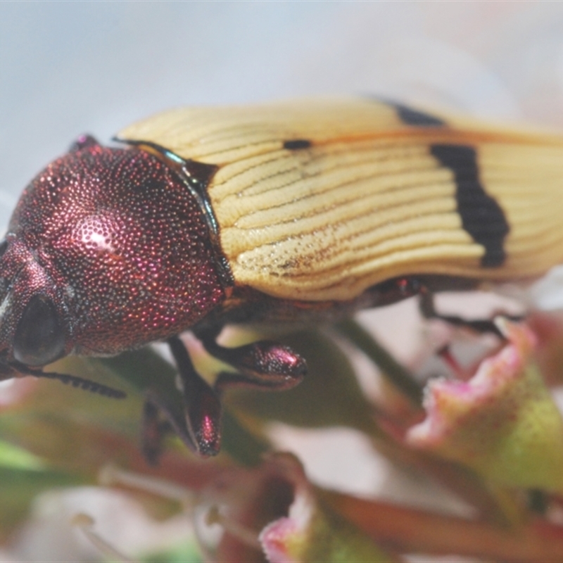
[[28, 366], [45, 365], [59, 358], [64, 349], [65, 335], [53, 302], [33, 296], [15, 329], [15, 360]]

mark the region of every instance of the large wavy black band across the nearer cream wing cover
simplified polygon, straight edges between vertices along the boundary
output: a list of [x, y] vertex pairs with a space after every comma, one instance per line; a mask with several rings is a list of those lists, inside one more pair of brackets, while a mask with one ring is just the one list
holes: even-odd
[[500, 205], [486, 194], [479, 182], [475, 149], [466, 145], [434, 144], [430, 152], [453, 172], [457, 213], [462, 218], [463, 228], [485, 248], [481, 266], [502, 266], [506, 260], [503, 243], [510, 227]]

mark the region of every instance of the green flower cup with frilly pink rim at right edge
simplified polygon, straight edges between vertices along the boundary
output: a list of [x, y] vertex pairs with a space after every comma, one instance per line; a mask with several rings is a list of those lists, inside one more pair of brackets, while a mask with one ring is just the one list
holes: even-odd
[[426, 419], [407, 443], [505, 486], [563, 491], [563, 421], [531, 355], [534, 334], [497, 320], [508, 339], [469, 381], [430, 381]]

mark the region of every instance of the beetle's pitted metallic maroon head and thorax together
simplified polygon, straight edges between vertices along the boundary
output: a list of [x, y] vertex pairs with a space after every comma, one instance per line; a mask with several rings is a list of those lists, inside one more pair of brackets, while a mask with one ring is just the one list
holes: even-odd
[[224, 298], [208, 224], [182, 177], [151, 153], [91, 138], [27, 186], [0, 253], [4, 366], [136, 348]]

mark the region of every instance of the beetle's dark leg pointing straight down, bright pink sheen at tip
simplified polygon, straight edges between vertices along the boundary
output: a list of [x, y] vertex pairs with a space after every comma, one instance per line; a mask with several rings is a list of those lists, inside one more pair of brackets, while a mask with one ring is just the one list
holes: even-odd
[[184, 343], [177, 336], [172, 336], [168, 345], [182, 381], [189, 438], [196, 453], [217, 455], [221, 443], [220, 400], [213, 388], [196, 372]]

